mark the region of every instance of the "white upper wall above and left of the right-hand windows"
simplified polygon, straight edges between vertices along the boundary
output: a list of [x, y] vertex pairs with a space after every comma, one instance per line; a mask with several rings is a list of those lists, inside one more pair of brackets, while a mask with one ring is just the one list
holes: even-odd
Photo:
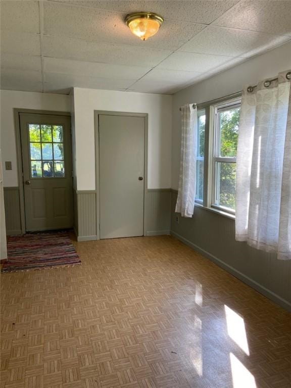
[[256, 85], [258, 81], [276, 76], [291, 68], [291, 42], [249, 59], [231, 69], [183, 89], [173, 95], [172, 188], [178, 188], [180, 160], [180, 112], [187, 103], [204, 103]]

